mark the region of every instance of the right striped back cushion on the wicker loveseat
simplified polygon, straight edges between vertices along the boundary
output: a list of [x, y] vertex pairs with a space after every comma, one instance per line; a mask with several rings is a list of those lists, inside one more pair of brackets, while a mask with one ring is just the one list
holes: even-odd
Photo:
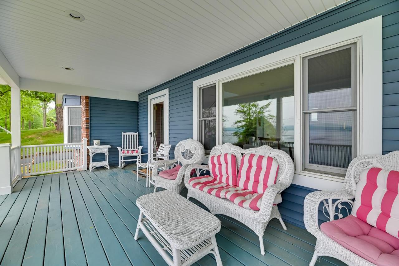
[[279, 164], [270, 156], [245, 154], [241, 159], [237, 185], [255, 193], [264, 193], [277, 181]]

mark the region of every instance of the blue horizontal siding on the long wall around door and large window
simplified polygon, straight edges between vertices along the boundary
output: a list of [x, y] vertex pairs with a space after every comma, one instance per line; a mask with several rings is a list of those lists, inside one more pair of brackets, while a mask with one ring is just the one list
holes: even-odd
[[[281, 49], [382, 16], [383, 24], [383, 153], [399, 150], [399, 1], [357, 0], [342, 4], [286, 30], [273, 34], [197, 69], [139, 94], [138, 131], [147, 151], [148, 95], [169, 89], [169, 143], [192, 138], [192, 82]], [[379, 140], [376, 140], [379, 141]], [[312, 189], [292, 185], [283, 194], [284, 220], [303, 227], [303, 200]], [[322, 217], [322, 215], [319, 215]]]

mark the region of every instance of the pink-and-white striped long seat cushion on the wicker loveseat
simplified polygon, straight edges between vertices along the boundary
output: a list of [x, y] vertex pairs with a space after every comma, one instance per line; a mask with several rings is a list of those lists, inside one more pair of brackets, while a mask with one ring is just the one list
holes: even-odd
[[249, 189], [242, 189], [238, 186], [227, 185], [226, 183], [214, 179], [210, 175], [192, 177], [189, 184], [208, 194], [221, 199], [228, 199], [245, 209], [259, 211], [261, 207], [263, 194], [255, 193]]

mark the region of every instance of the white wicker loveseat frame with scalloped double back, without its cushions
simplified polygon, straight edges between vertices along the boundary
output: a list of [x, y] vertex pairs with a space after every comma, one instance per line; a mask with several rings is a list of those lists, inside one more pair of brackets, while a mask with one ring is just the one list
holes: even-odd
[[263, 156], [271, 156], [279, 163], [279, 172], [277, 174], [277, 183], [269, 186], [263, 194], [261, 208], [259, 211], [252, 211], [240, 207], [228, 199], [221, 199], [206, 192], [200, 191], [189, 185], [190, 173], [196, 169], [197, 175], [203, 171], [209, 170], [207, 165], [191, 165], [186, 169], [184, 183], [188, 189], [187, 198], [195, 198], [203, 203], [212, 214], [223, 214], [232, 217], [241, 223], [247, 225], [251, 230], [259, 236], [259, 244], [261, 254], [265, 255], [265, 248], [263, 247], [263, 234], [269, 221], [273, 218], [279, 219], [282, 227], [286, 230], [286, 226], [281, 219], [281, 215], [277, 205], [273, 205], [276, 196], [284, 189], [290, 186], [292, 178], [294, 177], [294, 164], [288, 154], [281, 150], [275, 150], [269, 146], [261, 146], [259, 148], [250, 148], [243, 150], [238, 146], [231, 143], [215, 146], [210, 153], [212, 155], [234, 153], [237, 159], [237, 169], [239, 169], [241, 158], [243, 154], [254, 153]]

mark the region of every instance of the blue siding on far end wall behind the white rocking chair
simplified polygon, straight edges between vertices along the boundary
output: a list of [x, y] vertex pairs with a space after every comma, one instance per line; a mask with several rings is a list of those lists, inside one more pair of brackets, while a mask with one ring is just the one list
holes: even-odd
[[[109, 164], [119, 164], [122, 132], [138, 131], [138, 102], [90, 97], [90, 143], [100, 140], [100, 144], [111, 145]], [[104, 160], [104, 154], [96, 154], [93, 161]]]

